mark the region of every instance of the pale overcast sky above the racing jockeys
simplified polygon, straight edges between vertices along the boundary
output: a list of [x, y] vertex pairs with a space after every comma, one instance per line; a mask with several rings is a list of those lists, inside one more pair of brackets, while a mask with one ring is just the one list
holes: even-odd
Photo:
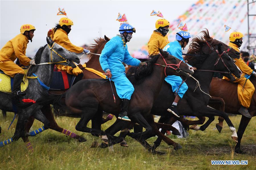
[[196, 1], [0, 1], [0, 48], [20, 33], [23, 24], [35, 26], [32, 43], [28, 43], [27, 56], [34, 56], [40, 46], [46, 44], [49, 29], [65, 17], [57, 16], [58, 8], [64, 8], [74, 25], [69, 33], [70, 41], [77, 46], [93, 43], [96, 37], [112, 38], [118, 34], [118, 12], [126, 14], [128, 22], [136, 28], [127, 44], [130, 52], [140, 49], [149, 40], [157, 16], [162, 12], [172, 21]]

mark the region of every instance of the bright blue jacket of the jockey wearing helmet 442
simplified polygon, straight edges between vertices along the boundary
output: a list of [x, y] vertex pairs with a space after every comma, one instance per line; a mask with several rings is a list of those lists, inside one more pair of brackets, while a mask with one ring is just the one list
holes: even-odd
[[103, 71], [109, 69], [111, 72], [125, 72], [122, 62], [132, 66], [138, 66], [140, 60], [133, 58], [127, 49], [127, 45], [120, 36], [115, 36], [108, 41], [101, 52], [100, 64]]

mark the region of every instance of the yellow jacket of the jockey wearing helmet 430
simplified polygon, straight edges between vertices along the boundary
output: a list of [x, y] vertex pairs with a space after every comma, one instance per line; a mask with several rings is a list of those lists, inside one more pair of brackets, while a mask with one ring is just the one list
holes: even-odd
[[19, 58], [22, 65], [27, 66], [30, 59], [26, 56], [26, 48], [28, 39], [25, 35], [19, 34], [10, 41], [8, 41], [0, 52], [0, 61], [14, 61]]

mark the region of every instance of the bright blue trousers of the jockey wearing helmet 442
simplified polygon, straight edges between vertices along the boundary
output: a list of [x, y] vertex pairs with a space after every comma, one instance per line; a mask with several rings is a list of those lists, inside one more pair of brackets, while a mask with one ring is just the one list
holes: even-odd
[[131, 99], [134, 87], [126, 77], [125, 72], [111, 72], [111, 81], [114, 81], [116, 93], [121, 99]]

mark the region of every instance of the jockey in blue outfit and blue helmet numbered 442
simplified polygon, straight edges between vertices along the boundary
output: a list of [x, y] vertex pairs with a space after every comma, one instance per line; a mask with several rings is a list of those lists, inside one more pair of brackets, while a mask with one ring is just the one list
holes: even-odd
[[120, 35], [116, 35], [108, 41], [101, 52], [99, 58], [102, 69], [108, 78], [114, 81], [117, 95], [122, 99], [122, 109], [118, 119], [131, 121], [127, 116], [127, 108], [134, 92], [132, 83], [127, 79], [125, 68], [122, 62], [139, 66], [140, 60], [130, 56], [126, 43], [132, 38], [132, 33], [136, 32], [130, 24], [124, 23], [119, 28]]

